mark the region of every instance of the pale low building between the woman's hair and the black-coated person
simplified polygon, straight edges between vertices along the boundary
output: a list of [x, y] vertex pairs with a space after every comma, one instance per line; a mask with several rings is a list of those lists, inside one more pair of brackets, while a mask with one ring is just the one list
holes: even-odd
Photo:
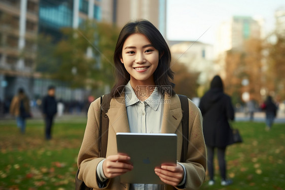
[[213, 64], [213, 46], [195, 41], [169, 41], [172, 63], [184, 64], [189, 72], [200, 73], [199, 84], [205, 84], [215, 74], [217, 69]]

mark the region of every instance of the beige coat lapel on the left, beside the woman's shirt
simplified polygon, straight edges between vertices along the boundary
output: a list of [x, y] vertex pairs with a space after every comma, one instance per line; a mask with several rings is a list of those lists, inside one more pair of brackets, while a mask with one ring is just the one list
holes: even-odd
[[109, 126], [116, 133], [130, 133], [124, 93], [122, 93], [121, 97], [111, 100], [110, 108], [106, 115], [109, 117]]

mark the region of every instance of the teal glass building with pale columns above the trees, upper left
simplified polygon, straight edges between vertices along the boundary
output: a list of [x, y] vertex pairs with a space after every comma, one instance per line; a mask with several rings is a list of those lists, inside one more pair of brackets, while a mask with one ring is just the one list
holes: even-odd
[[55, 41], [62, 38], [60, 28], [78, 28], [86, 19], [101, 20], [101, 1], [40, 0], [39, 33], [50, 35]]

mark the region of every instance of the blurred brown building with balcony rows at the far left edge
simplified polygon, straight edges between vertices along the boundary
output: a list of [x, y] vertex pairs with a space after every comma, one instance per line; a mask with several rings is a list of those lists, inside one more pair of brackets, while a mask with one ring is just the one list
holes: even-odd
[[0, 99], [24, 87], [32, 96], [39, 0], [0, 0]]

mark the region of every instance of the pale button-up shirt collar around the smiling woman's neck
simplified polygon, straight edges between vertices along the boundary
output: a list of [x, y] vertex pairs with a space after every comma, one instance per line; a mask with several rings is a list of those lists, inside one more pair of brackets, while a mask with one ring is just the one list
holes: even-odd
[[[145, 101], [145, 103], [147, 103], [153, 110], [156, 111], [160, 104], [161, 98], [162, 96], [158, 91], [158, 87], [156, 86], [151, 96]], [[136, 97], [136, 94], [130, 84], [130, 81], [127, 83], [125, 87], [125, 102], [126, 102], [126, 107], [136, 104], [137, 102], [140, 102]]]

